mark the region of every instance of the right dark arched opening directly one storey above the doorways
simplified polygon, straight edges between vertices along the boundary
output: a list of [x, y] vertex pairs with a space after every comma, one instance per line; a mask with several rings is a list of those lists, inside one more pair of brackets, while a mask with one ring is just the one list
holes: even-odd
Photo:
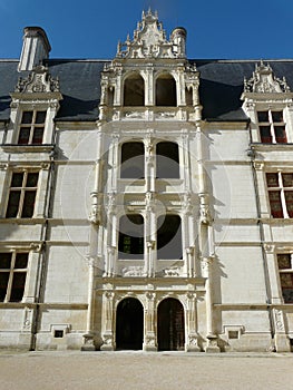
[[183, 259], [182, 220], [178, 215], [163, 215], [157, 220], [157, 259]]

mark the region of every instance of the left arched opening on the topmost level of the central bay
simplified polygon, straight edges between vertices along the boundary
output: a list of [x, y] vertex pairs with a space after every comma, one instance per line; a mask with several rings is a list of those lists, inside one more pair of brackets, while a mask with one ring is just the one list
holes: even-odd
[[145, 105], [145, 81], [138, 74], [127, 77], [124, 82], [124, 105], [144, 106]]

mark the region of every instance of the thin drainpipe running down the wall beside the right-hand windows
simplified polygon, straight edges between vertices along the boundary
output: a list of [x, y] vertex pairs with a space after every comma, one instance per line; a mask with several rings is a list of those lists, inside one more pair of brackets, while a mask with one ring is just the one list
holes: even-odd
[[[248, 125], [250, 126], [250, 125]], [[260, 232], [260, 240], [261, 240], [261, 247], [262, 247], [262, 259], [263, 259], [263, 271], [264, 271], [264, 283], [265, 283], [265, 293], [266, 293], [266, 304], [267, 304], [267, 312], [268, 312], [268, 322], [270, 322], [270, 331], [271, 331], [271, 351], [276, 351], [275, 345], [275, 324], [274, 324], [274, 318], [272, 312], [272, 291], [270, 285], [270, 274], [268, 274], [268, 267], [266, 263], [266, 253], [265, 253], [265, 235], [264, 235], [264, 226], [262, 222], [262, 214], [261, 214], [261, 201], [260, 201], [260, 192], [258, 192], [258, 184], [257, 184], [257, 175], [256, 175], [256, 168], [255, 168], [255, 152], [252, 148], [252, 134], [251, 134], [251, 127], [248, 127], [250, 131], [250, 149], [247, 150], [247, 156], [251, 158], [251, 167], [252, 167], [252, 175], [253, 175], [253, 184], [254, 184], [254, 192], [255, 192], [255, 203], [256, 203], [256, 213], [257, 213], [257, 225], [258, 225], [258, 232]]]

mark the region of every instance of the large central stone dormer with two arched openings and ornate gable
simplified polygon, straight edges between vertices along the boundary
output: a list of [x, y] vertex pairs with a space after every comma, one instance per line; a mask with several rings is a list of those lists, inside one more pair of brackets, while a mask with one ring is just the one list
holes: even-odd
[[157, 12], [143, 12], [101, 74], [100, 120], [201, 120], [199, 72], [185, 46], [184, 28], [168, 40]]

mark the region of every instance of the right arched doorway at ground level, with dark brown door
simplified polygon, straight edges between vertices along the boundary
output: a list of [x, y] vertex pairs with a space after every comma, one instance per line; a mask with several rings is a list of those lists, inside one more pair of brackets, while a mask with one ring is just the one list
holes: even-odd
[[158, 305], [158, 350], [182, 351], [184, 341], [183, 305], [178, 300], [168, 298]]

